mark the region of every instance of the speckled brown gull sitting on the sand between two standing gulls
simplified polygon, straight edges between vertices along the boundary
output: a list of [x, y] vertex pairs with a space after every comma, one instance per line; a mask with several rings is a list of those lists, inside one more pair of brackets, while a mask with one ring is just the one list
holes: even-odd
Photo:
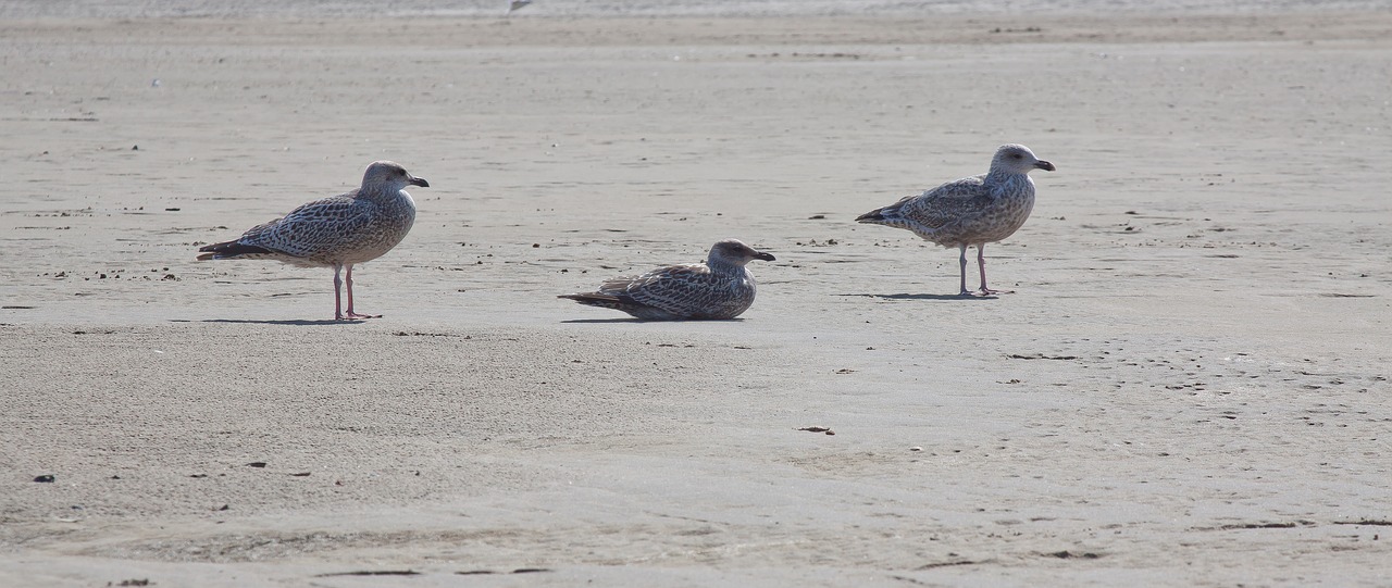
[[703, 264], [668, 266], [610, 279], [597, 292], [558, 297], [649, 321], [735, 318], [754, 303], [754, 277], [745, 268], [752, 260], [773, 261], [774, 256], [725, 239], [710, 247]]

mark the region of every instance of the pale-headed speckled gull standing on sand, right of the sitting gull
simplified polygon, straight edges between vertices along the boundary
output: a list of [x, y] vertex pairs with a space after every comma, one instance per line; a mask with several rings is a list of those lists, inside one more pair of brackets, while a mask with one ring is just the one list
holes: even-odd
[[1054, 164], [1034, 157], [1023, 145], [1002, 145], [991, 158], [991, 171], [905, 196], [856, 221], [909, 229], [944, 247], [960, 249], [962, 296], [972, 293], [966, 289], [966, 247], [976, 245], [976, 263], [981, 268], [977, 293], [1008, 293], [986, 286], [986, 243], [1013, 235], [1030, 217], [1034, 209], [1031, 170], [1054, 171]]

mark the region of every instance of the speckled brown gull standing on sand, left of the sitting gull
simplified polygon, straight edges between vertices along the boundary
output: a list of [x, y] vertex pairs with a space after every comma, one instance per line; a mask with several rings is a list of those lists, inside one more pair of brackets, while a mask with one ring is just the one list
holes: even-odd
[[[404, 188], [429, 188], [393, 161], [373, 161], [362, 188], [315, 200], [283, 218], [256, 225], [237, 240], [199, 247], [199, 260], [270, 259], [301, 267], [334, 268], [334, 320], [380, 318], [352, 310], [352, 267], [395, 247], [416, 221], [416, 203]], [[340, 272], [348, 272], [340, 278]], [[340, 291], [348, 284], [348, 313]]]

